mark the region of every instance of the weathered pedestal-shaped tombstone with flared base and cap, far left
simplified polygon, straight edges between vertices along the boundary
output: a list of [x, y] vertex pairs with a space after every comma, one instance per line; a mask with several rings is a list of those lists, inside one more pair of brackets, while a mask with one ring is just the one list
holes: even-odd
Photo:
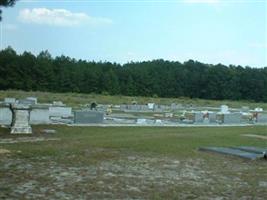
[[23, 104], [12, 104], [13, 113], [11, 134], [32, 134], [30, 121], [30, 106]]

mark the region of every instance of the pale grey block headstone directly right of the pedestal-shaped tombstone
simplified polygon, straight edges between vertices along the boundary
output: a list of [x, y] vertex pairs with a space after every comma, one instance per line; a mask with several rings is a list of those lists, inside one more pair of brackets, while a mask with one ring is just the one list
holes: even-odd
[[49, 124], [48, 106], [36, 105], [32, 107], [30, 114], [30, 124]]

